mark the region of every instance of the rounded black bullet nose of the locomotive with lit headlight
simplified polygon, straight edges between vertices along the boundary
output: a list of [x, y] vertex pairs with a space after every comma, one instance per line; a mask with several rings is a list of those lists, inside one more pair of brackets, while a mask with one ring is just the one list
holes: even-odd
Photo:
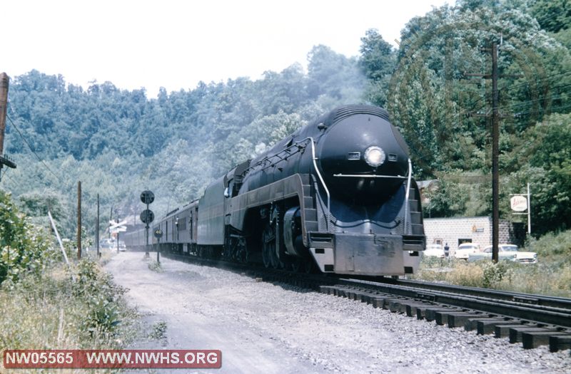
[[339, 199], [383, 202], [408, 175], [408, 148], [384, 118], [351, 115], [331, 125], [319, 143], [323, 178]]

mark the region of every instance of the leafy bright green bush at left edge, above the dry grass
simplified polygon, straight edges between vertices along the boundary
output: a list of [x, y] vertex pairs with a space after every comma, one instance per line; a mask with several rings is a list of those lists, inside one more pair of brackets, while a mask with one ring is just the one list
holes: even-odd
[[39, 274], [56, 254], [46, 234], [19, 212], [10, 194], [0, 191], [0, 282]]

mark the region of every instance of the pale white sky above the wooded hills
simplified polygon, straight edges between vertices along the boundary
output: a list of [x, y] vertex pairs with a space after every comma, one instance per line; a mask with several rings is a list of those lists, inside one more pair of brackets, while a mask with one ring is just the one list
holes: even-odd
[[191, 90], [199, 81], [261, 78], [323, 44], [358, 56], [378, 29], [397, 45], [400, 30], [445, 0], [17, 0], [0, 6], [0, 72], [36, 69], [84, 88]]

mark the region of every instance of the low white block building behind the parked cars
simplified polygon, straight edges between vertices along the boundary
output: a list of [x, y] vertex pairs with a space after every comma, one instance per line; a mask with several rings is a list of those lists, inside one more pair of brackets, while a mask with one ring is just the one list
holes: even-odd
[[[426, 244], [450, 246], [452, 256], [462, 243], [477, 243], [480, 248], [492, 244], [492, 217], [425, 218]], [[500, 244], [521, 246], [524, 224], [500, 219]]]

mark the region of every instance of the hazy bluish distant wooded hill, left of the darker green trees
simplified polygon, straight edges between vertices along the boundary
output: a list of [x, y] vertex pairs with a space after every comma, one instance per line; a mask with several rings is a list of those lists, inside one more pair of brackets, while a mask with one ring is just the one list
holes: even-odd
[[315, 46], [308, 59], [307, 74], [293, 65], [255, 81], [201, 82], [170, 94], [162, 89], [156, 98], [109, 82], [84, 90], [38, 71], [14, 77], [9, 115], [44, 162], [8, 126], [7, 151], [23, 166], [10, 170], [3, 186], [34, 220], [51, 207], [59, 232], [70, 239], [78, 180], [92, 236], [97, 194], [101, 222], [111, 209], [113, 217], [138, 215], [145, 188], [155, 193], [151, 209], [160, 217], [325, 110], [363, 102], [357, 58]]

